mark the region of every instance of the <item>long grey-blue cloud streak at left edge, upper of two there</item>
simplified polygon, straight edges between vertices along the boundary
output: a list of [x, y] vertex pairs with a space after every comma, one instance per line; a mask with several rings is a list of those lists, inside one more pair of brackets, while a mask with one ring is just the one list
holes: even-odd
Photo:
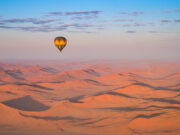
[[46, 24], [55, 22], [60, 19], [37, 19], [37, 18], [12, 18], [2, 20], [3, 23], [33, 23], [33, 24]]

